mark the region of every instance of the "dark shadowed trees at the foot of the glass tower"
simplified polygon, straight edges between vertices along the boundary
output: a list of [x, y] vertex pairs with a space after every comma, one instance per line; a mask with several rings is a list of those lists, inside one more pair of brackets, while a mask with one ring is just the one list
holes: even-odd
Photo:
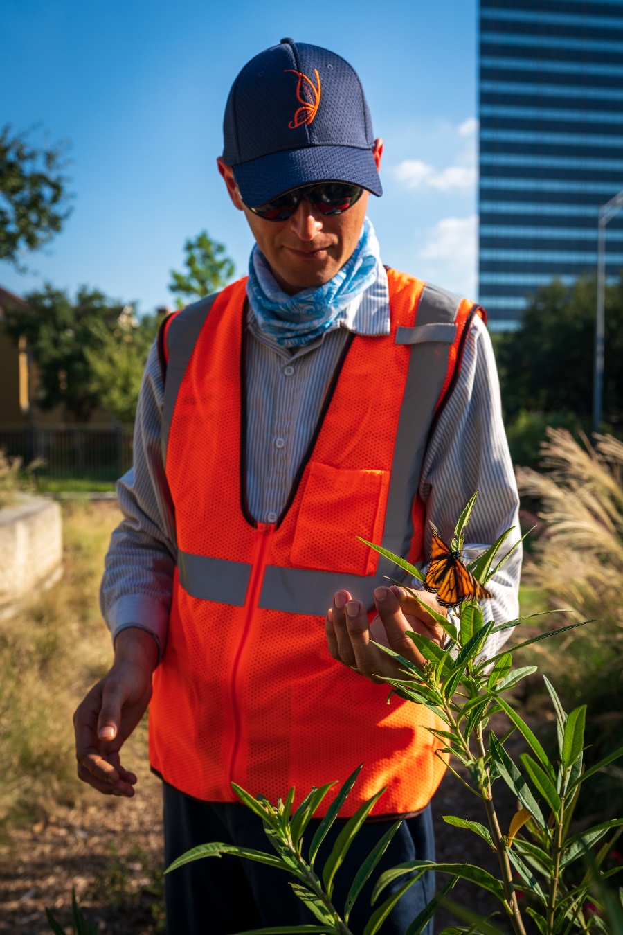
[[[522, 410], [570, 412], [578, 419], [592, 410], [595, 348], [595, 277], [559, 280], [543, 286], [524, 313], [521, 328], [496, 342], [505, 414]], [[605, 297], [605, 421], [623, 410], [623, 274]]]

